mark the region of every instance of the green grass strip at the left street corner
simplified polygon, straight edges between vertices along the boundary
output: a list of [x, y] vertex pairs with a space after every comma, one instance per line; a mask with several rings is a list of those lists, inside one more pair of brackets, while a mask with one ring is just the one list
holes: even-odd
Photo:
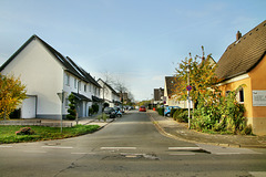
[[[21, 127], [31, 127], [34, 135], [16, 135], [16, 132], [20, 131]], [[93, 133], [99, 128], [98, 125], [75, 125], [63, 127], [63, 133], [61, 133], [60, 127], [2, 125], [0, 126], [0, 144], [61, 139]]]

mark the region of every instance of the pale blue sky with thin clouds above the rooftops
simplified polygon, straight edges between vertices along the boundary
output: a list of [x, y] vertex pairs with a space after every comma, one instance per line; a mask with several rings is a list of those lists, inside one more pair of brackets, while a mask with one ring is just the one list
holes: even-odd
[[109, 73], [136, 101], [153, 97], [188, 56], [218, 61], [266, 20], [265, 0], [0, 0], [0, 65], [37, 34], [96, 79]]

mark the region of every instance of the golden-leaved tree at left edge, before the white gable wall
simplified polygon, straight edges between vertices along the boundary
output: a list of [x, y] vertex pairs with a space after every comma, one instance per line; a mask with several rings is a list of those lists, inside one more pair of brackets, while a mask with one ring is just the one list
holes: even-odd
[[0, 117], [9, 118], [19, 104], [27, 98], [25, 85], [13, 75], [7, 76], [0, 73]]

